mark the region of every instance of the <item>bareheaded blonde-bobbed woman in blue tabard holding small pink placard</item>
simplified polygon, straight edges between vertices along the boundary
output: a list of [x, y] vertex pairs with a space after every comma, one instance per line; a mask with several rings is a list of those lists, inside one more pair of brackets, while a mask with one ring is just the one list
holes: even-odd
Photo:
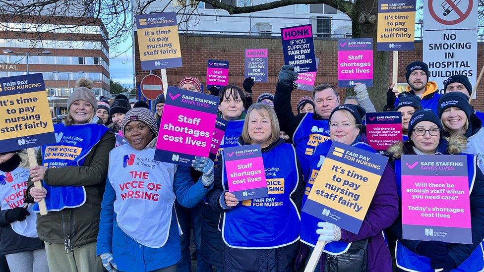
[[262, 103], [250, 106], [239, 144], [260, 144], [268, 187], [283, 187], [278, 193], [239, 202], [226, 190], [223, 161], [215, 171], [216, 182], [207, 199], [213, 209], [223, 212], [224, 272], [292, 271], [304, 186], [294, 147], [279, 135], [274, 109]]

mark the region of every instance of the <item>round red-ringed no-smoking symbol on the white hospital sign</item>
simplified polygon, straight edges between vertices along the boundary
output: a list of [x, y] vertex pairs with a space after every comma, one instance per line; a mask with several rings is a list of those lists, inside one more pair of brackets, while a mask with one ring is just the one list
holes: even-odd
[[[432, 15], [432, 18], [435, 21], [444, 25], [455, 25], [464, 21], [471, 14], [473, 7], [473, 0], [442, 0], [442, 2], [438, 4], [438, 6], [441, 7], [442, 10], [439, 9], [439, 11], [436, 12], [433, 7], [433, 1], [434, 0], [428, 0], [428, 11], [430, 12], [430, 15]], [[464, 9], [463, 7], [465, 7], [466, 3], [468, 4], [468, 6], [465, 12], [463, 12], [462, 10]], [[457, 19], [444, 19], [452, 12], [455, 12], [455, 14], [457, 14]]]

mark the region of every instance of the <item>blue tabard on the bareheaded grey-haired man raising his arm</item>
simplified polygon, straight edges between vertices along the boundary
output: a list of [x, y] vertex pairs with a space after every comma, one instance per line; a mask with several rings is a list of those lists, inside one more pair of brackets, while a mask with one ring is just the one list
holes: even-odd
[[316, 146], [329, 140], [329, 120], [314, 120], [312, 112], [306, 113], [293, 135], [296, 155], [298, 156], [304, 179], [307, 180], [311, 166], [312, 153]]

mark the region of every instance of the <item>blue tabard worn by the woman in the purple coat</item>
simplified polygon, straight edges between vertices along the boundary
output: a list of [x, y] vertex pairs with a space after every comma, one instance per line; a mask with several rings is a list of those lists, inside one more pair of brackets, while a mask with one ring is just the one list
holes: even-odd
[[[311, 175], [306, 179], [306, 189], [303, 196], [303, 206], [306, 202], [307, 196], [311, 191], [312, 185], [316, 180], [318, 175], [319, 169], [321, 169], [321, 165], [326, 158], [329, 148], [333, 142], [328, 140], [321, 145], [319, 145], [314, 150], [313, 160], [311, 161]], [[358, 142], [353, 144], [354, 147], [363, 149], [368, 152], [376, 153], [369, 145], [363, 142]], [[316, 234], [317, 223], [323, 220], [316, 218], [312, 215], [301, 213], [301, 241], [307, 245], [314, 247], [318, 241], [319, 234]], [[345, 253], [351, 246], [351, 243], [344, 242], [344, 241], [335, 241], [326, 244], [324, 247], [324, 252], [331, 254], [331, 255], [340, 255]]]

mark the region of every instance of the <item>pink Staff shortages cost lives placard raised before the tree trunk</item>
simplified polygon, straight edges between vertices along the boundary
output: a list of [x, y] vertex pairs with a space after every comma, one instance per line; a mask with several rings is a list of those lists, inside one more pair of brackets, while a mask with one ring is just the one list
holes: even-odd
[[373, 86], [373, 39], [338, 40], [338, 87]]

